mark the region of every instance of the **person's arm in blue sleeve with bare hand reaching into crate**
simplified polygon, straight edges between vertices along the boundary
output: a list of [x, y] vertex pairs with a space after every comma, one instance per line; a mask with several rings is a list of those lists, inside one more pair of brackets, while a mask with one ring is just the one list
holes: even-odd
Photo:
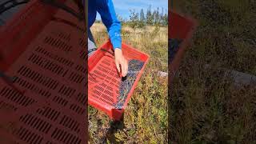
[[103, 1], [98, 2], [97, 11], [101, 15], [102, 22], [109, 33], [118, 72], [122, 72], [122, 77], [125, 77], [128, 72], [128, 62], [122, 54], [121, 22], [118, 21], [115, 14], [112, 0]]

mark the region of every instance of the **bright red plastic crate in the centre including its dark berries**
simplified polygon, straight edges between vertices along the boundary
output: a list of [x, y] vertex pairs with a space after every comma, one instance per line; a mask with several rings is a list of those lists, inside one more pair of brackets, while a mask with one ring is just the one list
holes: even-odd
[[121, 78], [114, 63], [113, 47], [109, 42], [98, 48], [88, 60], [88, 102], [120, 120], [149, 56], [122, 43], [122, 52], [128, 59], [128, 74]]

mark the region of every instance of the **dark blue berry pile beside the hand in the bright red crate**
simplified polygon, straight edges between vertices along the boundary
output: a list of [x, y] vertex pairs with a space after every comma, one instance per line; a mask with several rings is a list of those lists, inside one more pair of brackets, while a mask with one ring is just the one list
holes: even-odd
[[130, 92], [131, 87], [133, 86], [137, 75], [142, 67], [144, 62], [138, 60], [130, 60], [128, 64], [128, 73], [125, 78], [122, 78], [122, 82], [119, 88], [119, 97], [118, 102], [115, 106], [116, 109], [122, 109], [124, 102], [126, 102], [126, 98]]

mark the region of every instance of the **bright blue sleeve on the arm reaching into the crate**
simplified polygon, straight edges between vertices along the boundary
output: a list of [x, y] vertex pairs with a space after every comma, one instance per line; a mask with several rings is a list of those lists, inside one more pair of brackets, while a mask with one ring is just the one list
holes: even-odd
[[106, 29], [110, 36], [110, 41], [114, 49], [121, 49], [121, 22], [118, 21], [118, 18], [115, 14], [112, 0], [105, 0], [104, 2], [102, 2], [102, 4], [98, 6], [97, 11], [101, 15], [102, 22], [106, 26]]

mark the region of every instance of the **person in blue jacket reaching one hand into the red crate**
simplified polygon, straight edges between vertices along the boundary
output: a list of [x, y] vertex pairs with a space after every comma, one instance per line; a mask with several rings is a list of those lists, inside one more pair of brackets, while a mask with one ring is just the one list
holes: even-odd
[[92, 26], [96, 20], [97, 12], [100, 14], [102, 22], [106, 26], [110, 37], [110, 42], [114, 48], [114, 61], [118, 72], [122, 75], [122, 77], [125, 77], [128, 72], [128, 63], [122, 54], [121, 22], [118, 21], [115, 14], [112, 0], [88, 1], [88, 55], [90, 57], [97, 47], [90, 31], [90, 26]]

